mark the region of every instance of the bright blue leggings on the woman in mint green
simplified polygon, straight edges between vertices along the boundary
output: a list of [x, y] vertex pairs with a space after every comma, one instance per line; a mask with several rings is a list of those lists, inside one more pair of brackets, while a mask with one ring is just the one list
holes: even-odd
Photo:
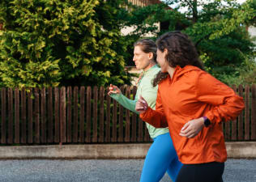
[[169, 133], [160, 134], [147, 151], [140, 182], [158, 182], [165, 171], [174, 182], [181, 167]]

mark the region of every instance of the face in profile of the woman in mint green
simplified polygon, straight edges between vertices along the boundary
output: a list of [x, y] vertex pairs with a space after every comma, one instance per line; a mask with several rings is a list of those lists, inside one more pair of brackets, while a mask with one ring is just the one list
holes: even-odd
[[133, 61], [137, 69], [147, 70], [151, 62], [150, 53], [144, 53], [140, 46], [137, 45], [134, 47]]

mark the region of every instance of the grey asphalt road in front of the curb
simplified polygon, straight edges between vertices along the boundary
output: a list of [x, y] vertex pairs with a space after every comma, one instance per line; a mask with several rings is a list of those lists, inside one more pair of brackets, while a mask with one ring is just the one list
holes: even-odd
[[[136, 182], [142, 159], [0, 160], [1, 182]], [[171, 181], [165, 175], [161, 182]], [[256, 159], [228, 159], [225, 182], [256, 182]]]

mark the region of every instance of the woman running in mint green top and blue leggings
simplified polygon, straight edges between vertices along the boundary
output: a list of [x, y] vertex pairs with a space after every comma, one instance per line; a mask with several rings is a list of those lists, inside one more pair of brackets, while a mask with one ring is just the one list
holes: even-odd
[[[143, 70], [137, 83], [138, 89], [135, 99], [128, 99], [117, 86], [110, 84], [109, 95], [116, 99], [119, 104], [132, 112], [135, 110], [135, 104], [140, 96], [147, 100], [151, 108], [156, 106], [156, 95], [158, 87], [152, 87], [151, 80], [155, 78], [160, 68], [156, 65], [156, 44], [153, 40], [143, 39], [134, 44], [133, 61], [136, 68]], [[176, 150], [173, 147], [173, 141], [169, 135], [168, 128], [156, 129], [147, 124], [148, 133], [153, 139], [153, 143], [147, 151], [144, 161], [143, 171], [140, 182], [157, 182], [164, 176], [165, 171], [173, 181], [181, 168], [181, 163], [177, 159]]]

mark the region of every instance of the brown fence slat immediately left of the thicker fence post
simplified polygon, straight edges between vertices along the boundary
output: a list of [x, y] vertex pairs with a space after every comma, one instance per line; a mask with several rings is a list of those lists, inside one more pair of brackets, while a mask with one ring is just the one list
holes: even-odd
[[60, 142], [60, 117], [59, 117], [59, 91], [58, 87], [54, 88], [54, 111], [55, 111], [55, 133], [54, 142]]

